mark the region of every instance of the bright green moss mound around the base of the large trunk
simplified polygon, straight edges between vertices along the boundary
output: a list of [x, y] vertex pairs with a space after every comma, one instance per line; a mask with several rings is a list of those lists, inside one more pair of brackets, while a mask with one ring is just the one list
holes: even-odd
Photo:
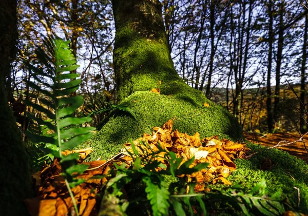
[[[210, 107], [204, 107], [204, 102], [211, 104]], [[137, 121], [129, 115], [111, 117], [99, 132], [79, 147], [93, 148], [89, 161], [100, 156], [102, 159], [110, 158], [129, 139], [138, 139], [143, 133], [151, 134], [153, 127], [162, 126], [169, 119], [174, 120], [174, 129], [190, 135], [198, 131], [201, 137], [218, 134], [220, 138], [242, 138], [236, 119], [197, 91], [172, 96], [138, 91], [127, 97], [123, 104], [134, 110]]]

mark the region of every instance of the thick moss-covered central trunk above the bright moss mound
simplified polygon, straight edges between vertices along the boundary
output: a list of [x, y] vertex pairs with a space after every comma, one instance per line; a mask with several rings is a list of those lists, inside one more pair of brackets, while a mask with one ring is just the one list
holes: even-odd
[[165, 87], [179, 81], [169, 52], [160, 2], [114, 0], [112, 6], [118, 99], [122, 101], [135, 91], [157, 88], [159, 81]]

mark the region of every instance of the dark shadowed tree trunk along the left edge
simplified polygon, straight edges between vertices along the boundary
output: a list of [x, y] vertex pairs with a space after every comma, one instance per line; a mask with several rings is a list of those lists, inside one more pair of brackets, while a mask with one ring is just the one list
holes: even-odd
[[4, 87], [16, 54], [16, 0], [0, 1], [0, 214], [27, 215], [23, 200], [29, 195], [30, 169], [22, 137], [8, 105]]

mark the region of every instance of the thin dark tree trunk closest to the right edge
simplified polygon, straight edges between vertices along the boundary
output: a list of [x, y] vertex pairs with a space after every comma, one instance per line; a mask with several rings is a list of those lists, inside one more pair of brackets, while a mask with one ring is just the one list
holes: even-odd
[[300, 132], [305, 133], [307, 131], [307, 125], [305, 122], [305, 85], [306, 85], [306, 61], [307, 61], [307, 31], [308, 31], [308, 15], [305, 15], [305, 28], [304, 28], [304, 43], [303, 43], [303, 55], [302, 55], [302, 65], [300, 73]]

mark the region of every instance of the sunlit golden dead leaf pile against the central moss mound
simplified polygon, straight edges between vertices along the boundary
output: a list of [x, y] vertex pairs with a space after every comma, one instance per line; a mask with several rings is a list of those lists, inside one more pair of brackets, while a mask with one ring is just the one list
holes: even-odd
[[[169, 120], [162, 128], [154, 127], [153, 130], [155, 131], [152, 131], [152, 135], [144, 133], [142, 138], [133, 141], [140, 155], [143, 154], [146, 148], [141, 146], [140, 141], [149, 144], [149, 148], [146, 148], [148, 152], [159, 151], [158, 143], [160, 143], [163, 149], [175, 152], [178, 157], [182, 157], [184, 159], [182, 163], [193, 156], [195, 156], [195, 161], [191, 166], [198, 163], [209, 163], [208, 169], [203, 169], [188, 176], [188, 182], [197, 182], [195, 186], [196, 192], [205, 190], [206, 184], [209, 183], [221, 182], [231, 185], [226, 178], [230, 172], [236, 170], [236, 165], [232, 160], [244, 158], [245, 153], [251, 149], [247, 148], [243, 143], [234, 143], [226, 139], [219, 140], [217, 135], [200, 140], [198, 132], [190, 136], [187, 133], [180, 133], [178, 130], [172, 131], [172, 126], [172, 120]], [[130, 146], [130, 143], [125, 144], [126, 148]], [[133, 154], [131, 148], [128, 150]], [[157, 160], [162, 163], [165, 162], [163, 154], [164, 152], [160, 152], [156, 155]], [[132, 158], [127, 154], [123, 160], [130, 164]]]

